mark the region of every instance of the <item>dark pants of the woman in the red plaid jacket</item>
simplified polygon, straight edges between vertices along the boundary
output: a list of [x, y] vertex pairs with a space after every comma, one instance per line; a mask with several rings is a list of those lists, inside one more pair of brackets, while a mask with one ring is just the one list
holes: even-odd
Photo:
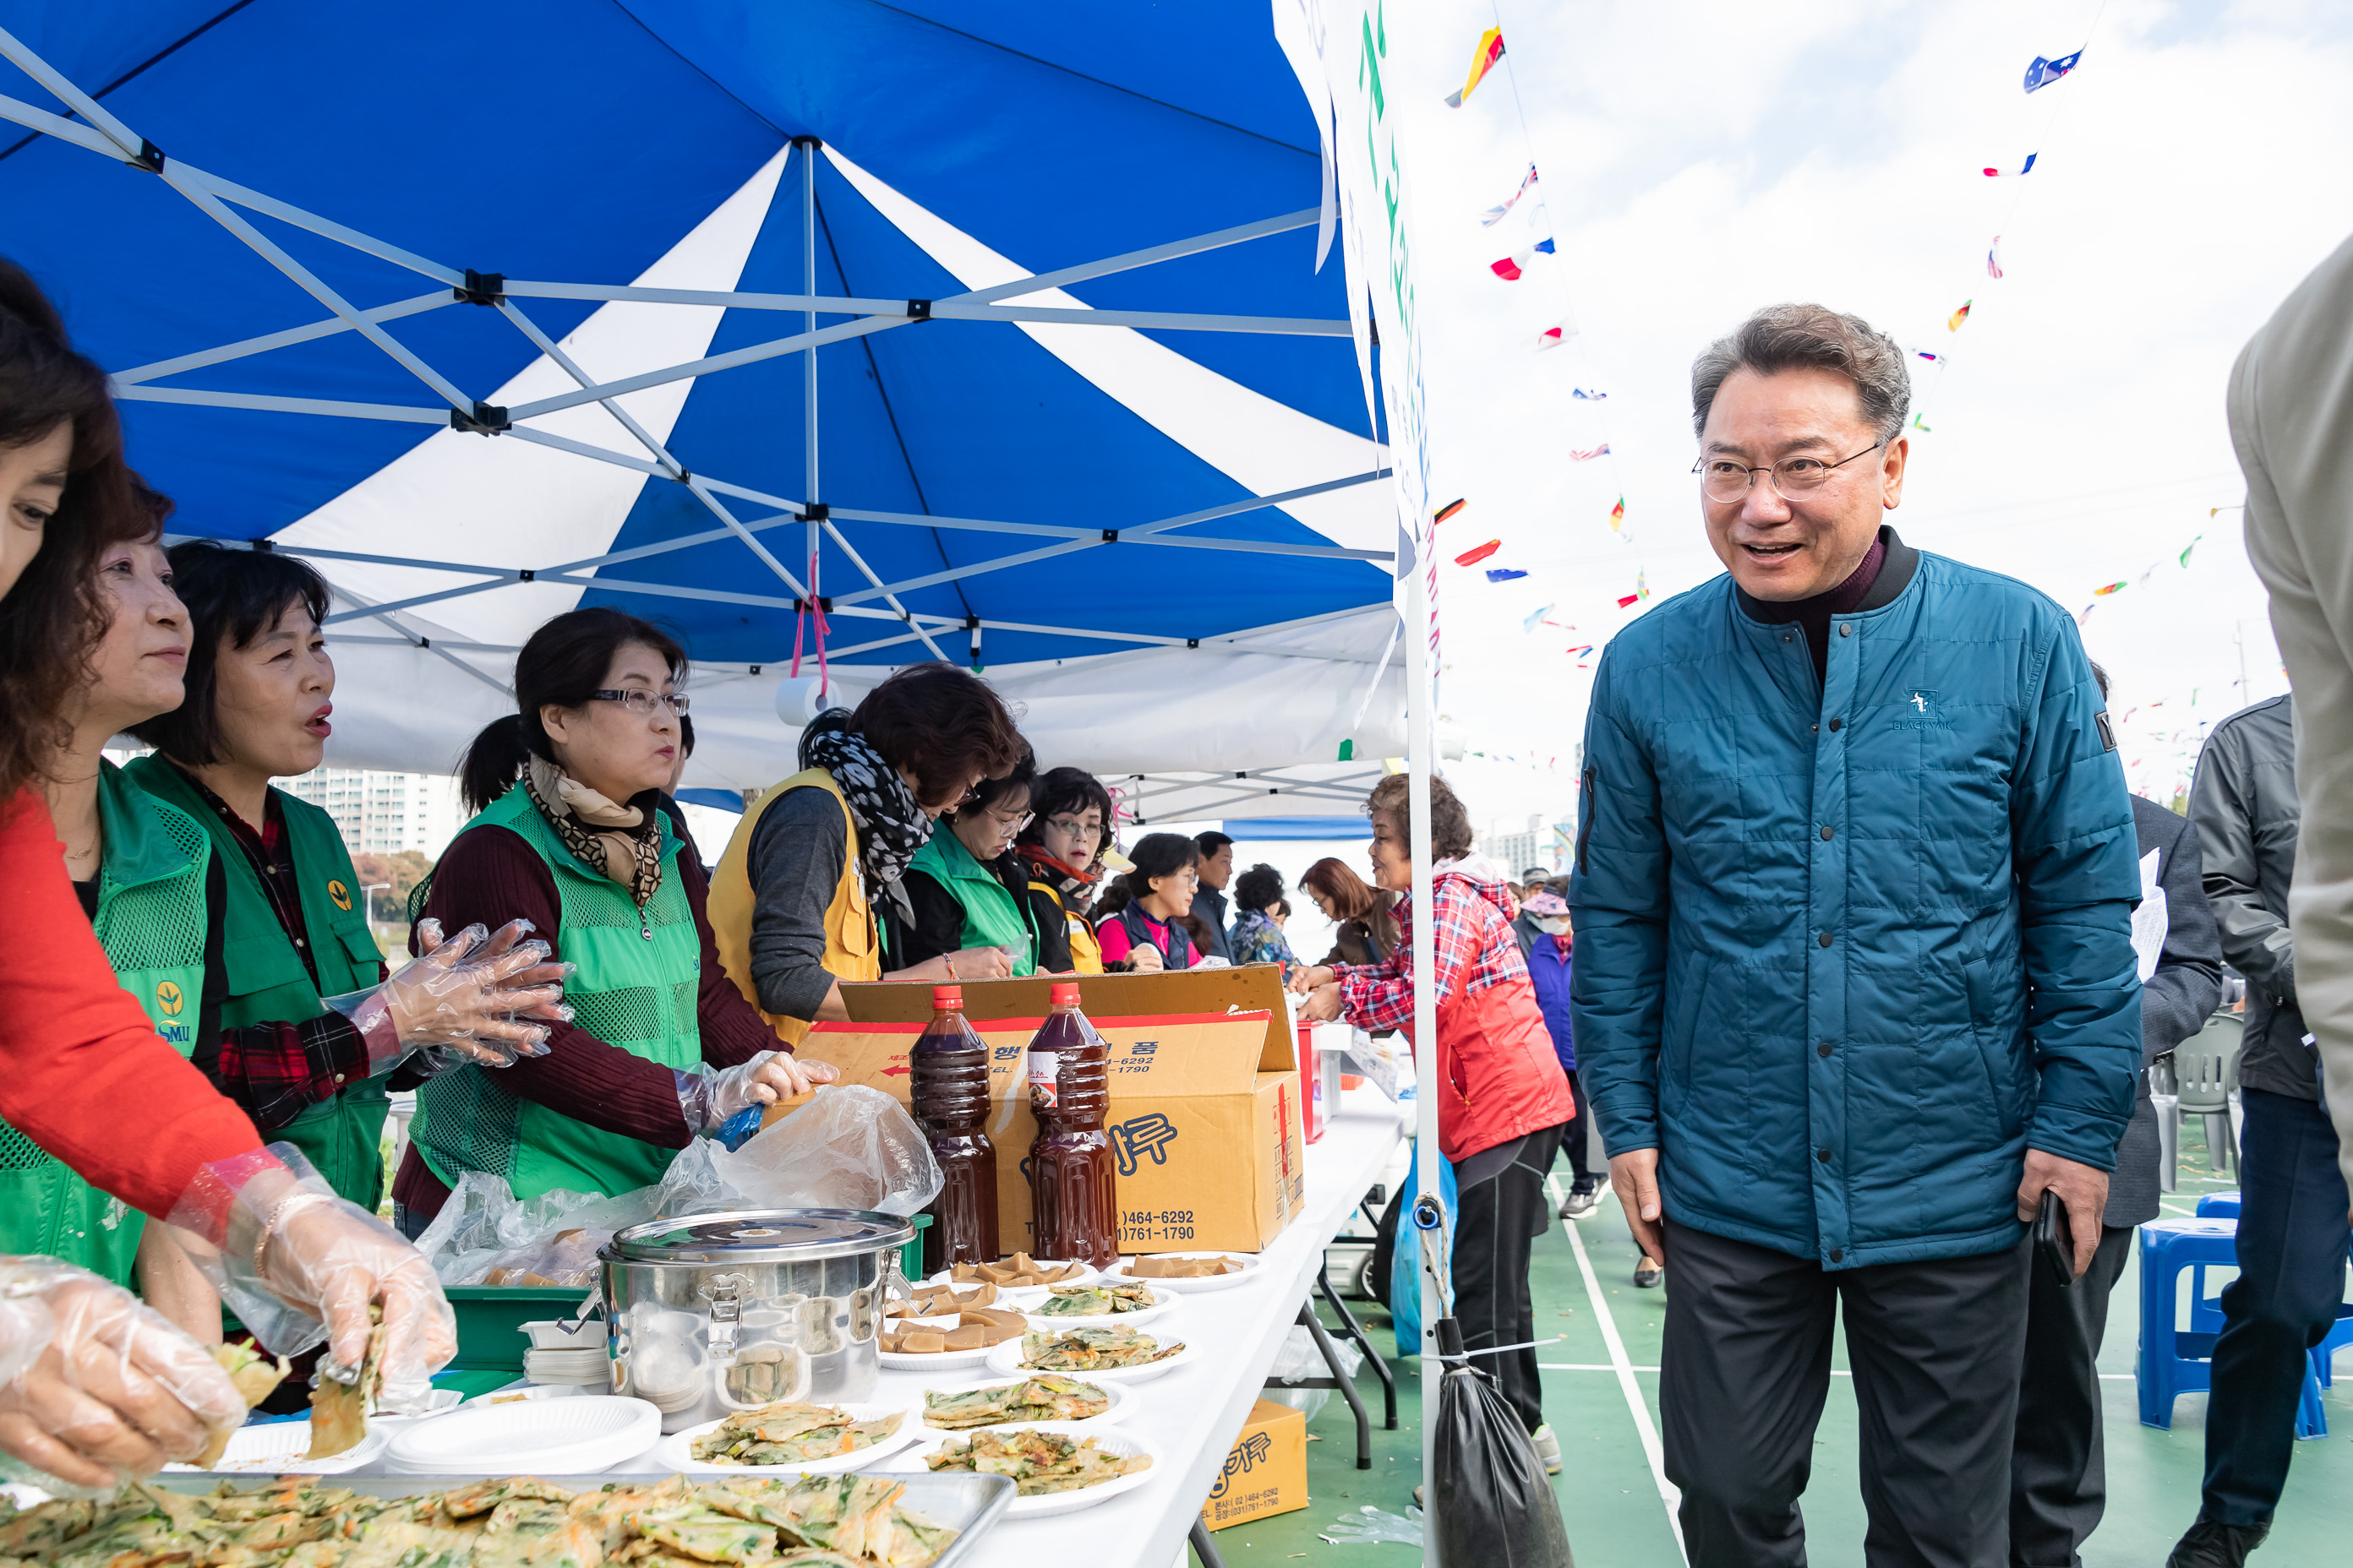
[[[1569, 1124], [1574, 1128], [1574, 1121]], [[1464, 1349], [1527, 1345], [1537, 1338], [1537, 1305], [1527, 1295], [1529, 1241], [1553, 1227], [1544, 1175], [1560, 1152], [1560, 1128], [1529, 1133], [1518, 1159], [1482, 1182], [1466, 1182], [1454, 1211], [1454, 1321]], [[1471, 1159], [1478, 1159], [1475, 1154]], [[1464, 1161], [1468, 1166], [1471, 1161]], [[1457, 1173], [1464, 1168], [1457, 1166]], [[1506, 1349], [1475, 1356], [1529, 1432], [1544, 1425], [1544, 1385], [1537, 1352]]]

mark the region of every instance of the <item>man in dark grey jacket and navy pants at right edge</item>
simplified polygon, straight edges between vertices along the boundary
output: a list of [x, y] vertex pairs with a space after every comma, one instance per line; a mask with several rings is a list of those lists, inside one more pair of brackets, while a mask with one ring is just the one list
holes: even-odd
[[2287, 891], [2297, 867], [2297, 708], [2275, 696], [2207, 736], [2191, 820], [2221, 954], [2247, 976], [2238, 1058], [2238, 1279], [2221, 1293], [2198, 1523], [2174, 1568], [2238, 1568], [2271, 1533], [2287, 1483], [2306, 1352], [2337, 1324], [2346, 1180], [2320, 1110], [2320, 1058], [2297, 1009]]

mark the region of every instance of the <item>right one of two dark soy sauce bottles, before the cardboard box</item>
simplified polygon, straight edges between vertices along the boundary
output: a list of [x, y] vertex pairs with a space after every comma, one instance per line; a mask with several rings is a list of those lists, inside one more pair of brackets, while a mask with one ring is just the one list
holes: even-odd
[[1113, 1168], [1111, 1048], [1078, 1011], [1078, 985], [1054, 987], [1054, 1011], [1031, 1039], [1031, 1253], [1056, 1262], [1111, 1267], [1120, 1258], [1120, 1197]]

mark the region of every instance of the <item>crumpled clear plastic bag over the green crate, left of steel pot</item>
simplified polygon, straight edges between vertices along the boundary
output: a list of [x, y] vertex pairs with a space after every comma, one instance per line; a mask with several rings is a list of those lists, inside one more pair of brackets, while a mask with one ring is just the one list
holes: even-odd
[[[518, 1199], [504, 1175], [466, 1171], [449, 1201], [416, 1237], [445, 1286], [576, 1286], [595, 1284], [595, 1253], [612, 1232], [652, 1220], [659, 1187], [621, 1197], [600, 1192], [541, 1192]], [[492, 1279], [496, 1274], [496, 1279]]]

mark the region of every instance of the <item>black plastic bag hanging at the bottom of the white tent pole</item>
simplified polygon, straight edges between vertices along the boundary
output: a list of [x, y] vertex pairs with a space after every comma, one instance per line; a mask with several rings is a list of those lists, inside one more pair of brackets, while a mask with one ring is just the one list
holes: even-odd
[[1464, 1331], [1438, 1319], [1438, 1481], [1431, 1493], [1445, 1568], [1577, 1568], [1560, 1500], [1504, 1396], [1464, 1354]]

